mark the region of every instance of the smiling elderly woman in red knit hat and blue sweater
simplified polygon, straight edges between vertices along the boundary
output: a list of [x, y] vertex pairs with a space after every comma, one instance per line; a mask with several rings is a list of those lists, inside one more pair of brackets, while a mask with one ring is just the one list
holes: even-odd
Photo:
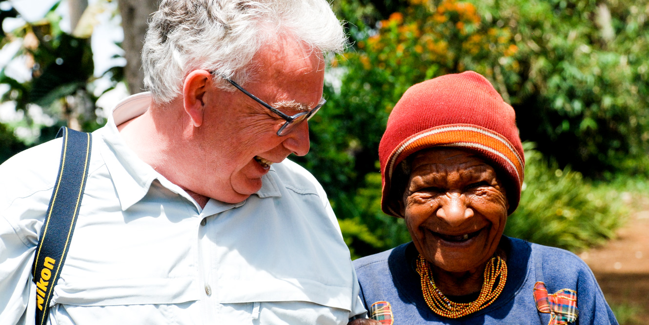
[[382, 324], [617, 324], [574, 254], [502, 235], [524, 156], [511, 106], [467, 71], [412, 86], [379, 149], [382, 209], [412, 237], [356, 260]]

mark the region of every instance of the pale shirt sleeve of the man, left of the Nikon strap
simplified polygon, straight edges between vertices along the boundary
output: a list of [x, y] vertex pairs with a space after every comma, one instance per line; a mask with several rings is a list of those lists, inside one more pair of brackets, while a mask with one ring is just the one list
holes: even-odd
[[56, 154], [60, 141], [39, 147], [0, 165], [1, 324], [34, 323], [36, 290], [32, 290], [31, 269], [58, 169], [58, 160], [43, 163], [43, 157]]

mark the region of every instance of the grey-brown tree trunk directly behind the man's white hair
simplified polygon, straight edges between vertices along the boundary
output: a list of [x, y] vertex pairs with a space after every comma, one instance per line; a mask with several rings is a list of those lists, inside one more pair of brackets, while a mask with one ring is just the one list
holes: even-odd
[[127, 84], [129, 84], [129, 92], [131, 94], [139, 93], [144, 90], [142, 44], [147, 32], [149, 16], [158, 10], [158, 0], [119, 0], [117, 4], [124, 30], [124, 42], [122, 43], [126, 58], [124, 75]]

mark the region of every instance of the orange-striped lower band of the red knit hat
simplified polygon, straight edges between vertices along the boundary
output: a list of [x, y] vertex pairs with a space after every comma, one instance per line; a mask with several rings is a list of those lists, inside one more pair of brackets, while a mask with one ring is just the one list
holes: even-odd
[[510, 176], [515, 176], [514, 181], [519, 190], [523, 181], [524, 162], [513, 145], [500, 134], [483, 128], [482, 126], [468, 124], [454, 124], [436, 126], [424, 130], [405, 139], [393, 150], [386, 163], [386, 184], [383, 189], [382, 205], [398, 215], [387, 203], [389, 184], [392, 173], [400, 162], [411, 154], [430, 147], [464, 147], [472, 151], [482, 152], [489, 160], [498, 162]]

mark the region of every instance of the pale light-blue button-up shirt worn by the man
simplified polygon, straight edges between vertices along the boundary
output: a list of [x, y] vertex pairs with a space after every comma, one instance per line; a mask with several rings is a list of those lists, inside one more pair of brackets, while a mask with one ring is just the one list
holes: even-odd
[[[349, 250], [323, 188], [285, 160], [239, 204], [188, 193], [142, 162], [116, 125], [93, 132], [80, 217], [51, 324], [347, 324], [363, 315]], [[0, 324], [34, 324], [31, 267], [61, 141], [0, 165]]]

